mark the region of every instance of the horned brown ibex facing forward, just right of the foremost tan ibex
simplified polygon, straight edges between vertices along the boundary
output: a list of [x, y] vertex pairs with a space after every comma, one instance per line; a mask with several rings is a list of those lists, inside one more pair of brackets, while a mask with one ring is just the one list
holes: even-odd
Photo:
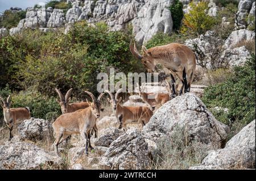
[[147, 106], [121, 106], [120, 102], [122, 97], [118, 99], [118, 95], [122, 92], [122, 89], [119, 89], [115, 96], [109, 90], [105, 90], [105, 92], [108, 92], [111, 98], [108, 98], [108, 101], [112, 105], [114, 115], [120, 123], [119, 129], [126, 127], [126, 124], [133, 123], [135, 121], [138, 121], [138, 123], [141, 123], [142, 126], [144, 126], [153, 115], [153, 112]]

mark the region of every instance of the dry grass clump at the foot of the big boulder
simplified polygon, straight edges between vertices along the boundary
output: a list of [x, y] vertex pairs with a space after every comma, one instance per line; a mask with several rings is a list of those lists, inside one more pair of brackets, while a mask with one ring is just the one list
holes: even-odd
[[189, 169], [191, 166], [200, 165], [209, 149], [209, 146], [200, 142], [188, 141], [185, 132], [180, 129], [172, 136], [160, 140], [158, 150], [161, 152], [151, 162], [149, 169]]

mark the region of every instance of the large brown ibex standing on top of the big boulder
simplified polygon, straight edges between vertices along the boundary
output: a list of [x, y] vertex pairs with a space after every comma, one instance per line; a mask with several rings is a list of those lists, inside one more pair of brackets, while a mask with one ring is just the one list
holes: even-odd
[[131, 53], [147, 68], [149, 72], [155, 71], [156, 64], [162, 64], [170, 70], [172, 98], [176, 96], [175, 77], [177, 76], [182, 82], [179, 95], [189, 92], [196, 69], [196, 56], [187, 46], [179, 43], [171, 43], [168, 45], [153, 47], [146, 49], [142, 45], [143, 55], [139, 54], [135, 42], [130, 43]]

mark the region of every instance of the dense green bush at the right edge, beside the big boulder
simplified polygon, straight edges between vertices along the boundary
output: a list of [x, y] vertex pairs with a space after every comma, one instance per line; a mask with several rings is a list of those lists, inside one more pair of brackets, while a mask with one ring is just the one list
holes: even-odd
[[[225, 82], [210, 86], [204, 91], [203, 102], [214, 116], [225, 124], [248, 124], [255, 119], [255, 55], [245, 66], [234, 68], [234, 74]], [[219, 107], [216, 110], [215, 107]], [[224, 111], [228, 108], [228, 111]], [[236, 123], [238, 122], [238, 123]]]

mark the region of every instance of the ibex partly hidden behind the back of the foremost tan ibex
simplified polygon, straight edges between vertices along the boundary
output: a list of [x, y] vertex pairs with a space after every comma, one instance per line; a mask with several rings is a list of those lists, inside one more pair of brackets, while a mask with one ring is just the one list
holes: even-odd
[[60, 97], [60, 100], [56, 99], [56, 101], [57, 101], [57, 103], [60, 104], [62, 113], [74, 112], [74, 111], [89, 107], [88, 103], [86, 103], [86, 102], [69, 104], [69, 98], [70, 98], [72, 89], [69, 89], [67, 91], [65, 97], [63, 96], [63, 94], [61, 94], [59, 89], [55, 89], [55, 90], [59, 94], [59, 97]]

